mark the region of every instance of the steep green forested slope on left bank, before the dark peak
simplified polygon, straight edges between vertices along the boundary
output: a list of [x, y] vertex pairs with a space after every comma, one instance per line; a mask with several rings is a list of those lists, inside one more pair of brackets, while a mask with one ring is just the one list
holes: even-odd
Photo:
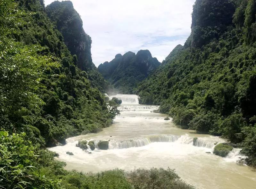
[[[24, 10], [21, 18], [14, 20], [14, 15], [1, 22], [1, 52], [6, 52], [1, 58], [1, 128], [26, 132], [29, 140], [54, 146], [109, 126], [114, 115], [103, 94], [76, 66], [76, 56], [47, 17], [42, 1], [18, 2]], [[10, 21], [15, 24], [6, 29]]]

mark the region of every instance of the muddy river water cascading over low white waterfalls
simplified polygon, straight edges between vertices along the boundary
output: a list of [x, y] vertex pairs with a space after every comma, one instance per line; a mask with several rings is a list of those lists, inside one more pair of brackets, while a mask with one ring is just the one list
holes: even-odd
[[[98, 172], [120, 168], [170, 167], [187, 183], [198, 189], [255, 189], [256, 172], [236, 164], [242, 155], [234, 149], [226, 158], [212, 154], [219, 137], [196, 134], [177, 128], [167, 115], [153, 113], [158, 106], [138, 104], [136, 95], [115, 95], [122, 100], [121, 115], [99, 133], [67, 139], [65, 146], [49, 148], [59, 153], [66, 169]], [[112, 96], [110, 96], [112, 98]], [[193, 138], [197, 137], [193, 145]], [[95, 149], [89, 154], [76, 144], [79, 140], [109, 140], [108, 150]], [[66, 152], [74, 155], [67, 155]], [[211, 153], [206, 153], [211, 152]]]

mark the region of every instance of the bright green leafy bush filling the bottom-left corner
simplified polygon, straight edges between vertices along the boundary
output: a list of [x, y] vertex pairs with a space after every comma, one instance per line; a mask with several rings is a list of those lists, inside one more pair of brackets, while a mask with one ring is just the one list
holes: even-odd
[[24, 140], [25, 135], [0, 131], [0, 187], [57, 189], [58, 180], [50, 180], [36, 168], [37, 146]]

